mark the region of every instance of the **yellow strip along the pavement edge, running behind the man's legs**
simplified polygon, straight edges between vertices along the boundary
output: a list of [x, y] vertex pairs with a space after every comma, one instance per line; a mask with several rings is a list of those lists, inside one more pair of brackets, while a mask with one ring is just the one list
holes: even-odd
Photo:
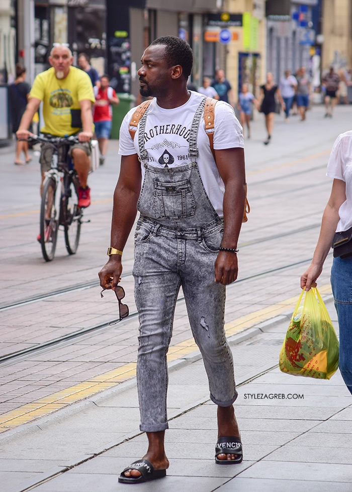
[[[319, 288], [321, 294], [331, 292], [330, 284], [323, 285]], [[286, 299], [278, 304], [273, 304], [266, 308], [254, 311], [249, 315], [242, 316], [225, 324], [227, 337], [244, 331], [247, 328], [257, 325], [263, 321], [274, 318], [287, 311], [289, 307], [293, 308], [299, 296]], [[169, 348], [167, 353], [168, 362], [179, 359], [184, 355], [198, 350], [193, 338], [180, 342]], [[115, 386], [117, 383], [130, 379], [136, 375], [136, 362], [130, 362], [112, 371], [105, 372], [99, 376], [93, 377], [88, 381], [83, 381], [66, 389], [62, 389], [53, 395], [42, 398], [37, 402], [29, 403], [17, 408], [7, 414], [0, 415], [0, 432], [18, 425], [25, 424], [30, 420], [37, 419], [51, 412], [66, 407], [71, 403], [89, 398], [104, 389]]]

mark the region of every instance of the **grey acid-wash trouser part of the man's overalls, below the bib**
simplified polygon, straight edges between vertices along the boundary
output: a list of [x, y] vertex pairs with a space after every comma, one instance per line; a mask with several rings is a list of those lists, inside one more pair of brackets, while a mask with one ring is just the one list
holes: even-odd
[[221, 245], [222, 226], [204, 234], [138, 221], [133, 276], [139, 314], [137, 387], [140, 430], [168, 428], [166, 414], [166, 353], [172, 335], [175, 303], [182, 285], [194, 339], [202, 353], [210, 398], [228, 407], [237, 398], [233, 360], [225, 338], [225, 285], [214, 282], [214, 263]]

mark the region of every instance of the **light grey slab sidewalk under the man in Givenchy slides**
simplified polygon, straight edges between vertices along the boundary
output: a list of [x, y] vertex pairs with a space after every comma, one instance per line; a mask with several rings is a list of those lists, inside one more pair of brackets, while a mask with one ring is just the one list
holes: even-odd
[[[332, 301], [326, 306], [335, 322]], [[170, 371], [167, 477], [138, 485], [138, 490], [350, 490], [351, 396], [339, 372], [329, 381], [280, 372], [276, 365], [288, 322], [289, 313], [277, 322], [258, 325], [257, 335], [246, 338], [251, 331], [231, 341], [243, 462], [231, 466], [214, 462], [216, 407], [209, 401], [200, 354], [193, 353]], [[33, 489], [126, 490], [128, 485], [117, 482], [118, 474], [146, 450], [146, 436], [138, 424], [132, 380], [5, 433], [0, 436], [2, 490], [22, 492], [41, 482]]]

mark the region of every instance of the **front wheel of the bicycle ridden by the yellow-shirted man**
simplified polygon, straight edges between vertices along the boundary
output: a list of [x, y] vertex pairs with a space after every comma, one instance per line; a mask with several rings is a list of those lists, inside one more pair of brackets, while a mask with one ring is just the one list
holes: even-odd
[[54, 258], [56, 249], [59, 211], [55, 208], [55, 193], [55, 180], [49, 178], [44, 183], [40, 209], [40, 244], [45, 261]]

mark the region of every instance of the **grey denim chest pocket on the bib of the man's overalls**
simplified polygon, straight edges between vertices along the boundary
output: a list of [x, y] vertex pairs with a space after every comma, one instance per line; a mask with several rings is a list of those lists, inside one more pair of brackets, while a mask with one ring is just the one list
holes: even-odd
[[154, 181], [153, 210], [157, 219], [186, 219], [196, 211], [190, 181]]

